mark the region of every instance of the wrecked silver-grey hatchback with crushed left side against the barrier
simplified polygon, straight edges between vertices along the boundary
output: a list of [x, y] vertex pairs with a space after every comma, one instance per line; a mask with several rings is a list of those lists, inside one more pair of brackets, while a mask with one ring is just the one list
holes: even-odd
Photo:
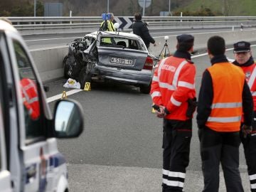
[[155, 62], [139, 36], [95, 31], [69, 43], [63, 65], [65, 78], [78, 80], [82, 89], [85, 82], [114, 80], [137, 86], [147, 94]]

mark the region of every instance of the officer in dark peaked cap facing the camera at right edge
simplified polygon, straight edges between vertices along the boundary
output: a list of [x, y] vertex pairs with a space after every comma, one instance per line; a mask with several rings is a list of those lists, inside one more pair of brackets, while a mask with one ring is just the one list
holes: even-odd
[[[253, 119], [252, 119], [252, 132], [250, 134], [244, 134], [242, 129], [240, 130], [240, 139], [244, 147], [245, 159], [247, 164], [247, 171], [250, 178], [251, 191], [256, 191], [256, 64], [252, 58], [252, 52], [250, 50], [250, 43], [246, 41], [239, 41], [234, 44], [235, 65], [242, 68], [245, 73], [246, 81], [249, 85], [250, 92], [252, 93], [253, 107]], [[243, 118], [242, 124], [243, 126]]]

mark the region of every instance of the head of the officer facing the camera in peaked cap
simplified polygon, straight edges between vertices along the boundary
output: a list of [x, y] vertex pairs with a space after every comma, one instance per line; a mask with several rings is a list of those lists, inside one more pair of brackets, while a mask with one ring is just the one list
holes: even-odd
[[250, 43], [247, 41], [239, 41], [238, 43], [235, 43], [234, 55], [235, 60], [238, 62], [238, 64], [245, 64], [252, 56], [252, 52], [250, 50]]

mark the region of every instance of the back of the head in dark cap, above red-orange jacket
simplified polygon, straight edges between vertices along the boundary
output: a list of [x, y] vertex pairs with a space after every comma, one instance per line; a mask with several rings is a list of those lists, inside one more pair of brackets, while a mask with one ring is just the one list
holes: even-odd
[[193, 51], [193, 42], [194, 42], [194, 37], [191, 36], [190, 34], [181, 34], [176, 37], [177, 38], [177, 50], [180, 51], [187, 51], [187, 52], [192, 52]]

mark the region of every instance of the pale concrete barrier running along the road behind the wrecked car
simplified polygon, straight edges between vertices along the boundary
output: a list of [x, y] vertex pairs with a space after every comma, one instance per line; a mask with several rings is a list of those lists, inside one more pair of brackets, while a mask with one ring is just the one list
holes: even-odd
[[[256, 41], [256, 30], [232, 31], [232, 28], [230, 28], [230, 31], [226, 32], [195, 33], [193, 36], [195, 36], [194, 50], [197, 50], [206, 48], [208, 38], [211, 36], [222, 36], [227, 46], [236, 41]], [[165, 40], [164, 37], [157, 37], [155, 40], [157, 46], [154, 47], [151, 44], [149, 51], [157, 57], [164, 48]], [[167, 45], [170, 52], [174, 53], [176, 50], [176, 36], [169, 36]], [[68, 46], [31, 50], [31, 55], [43, 82], [63, 77], [63, 58], [67, 53]]]

